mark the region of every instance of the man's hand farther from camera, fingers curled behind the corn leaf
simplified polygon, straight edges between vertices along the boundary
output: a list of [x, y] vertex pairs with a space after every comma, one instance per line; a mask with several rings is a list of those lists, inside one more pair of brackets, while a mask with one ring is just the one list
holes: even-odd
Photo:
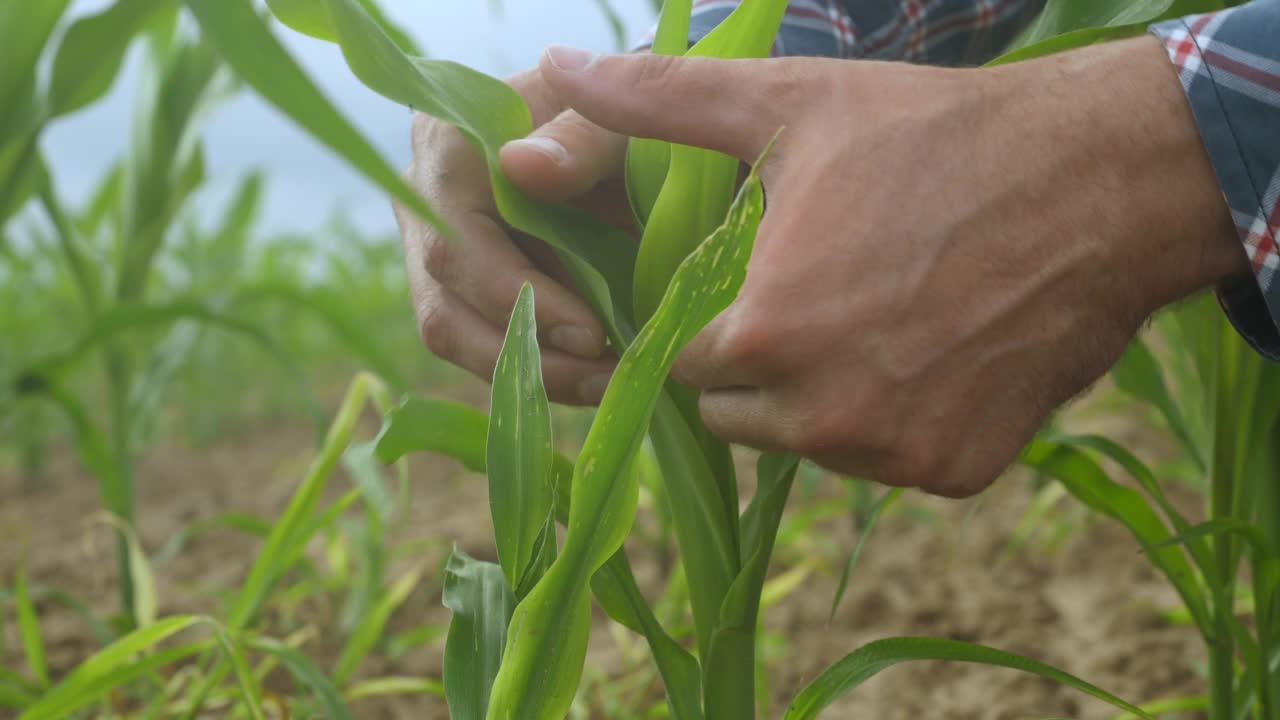
[[[620, 223], [630, 220], [621, 176], [626, 140], [564, 111], [534, 70], [512, 81], [529, 102], [534, 135], [507, 145], [503, 170], [529, 195], [576, 200]], [[573, 293], [554, 252], [512, 233], [494, 205], [484, 159], [452, 127], [419, 115], [407, 179], [463, 236], [451, 242], [412, 211], [396, 206], [413, 307], [431, 352], [493, 378], [511, 309], [525, 282], [538, 297], [543, 374], [552, 400], [599, 402], [614, 360], [604, 329]]]

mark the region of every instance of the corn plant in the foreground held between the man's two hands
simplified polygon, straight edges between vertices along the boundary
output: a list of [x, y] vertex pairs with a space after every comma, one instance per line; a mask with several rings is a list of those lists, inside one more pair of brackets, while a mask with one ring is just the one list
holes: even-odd
[[[349, 138], [330, 127], [328, 118], [310, 111], [310, 90], [296, 87], [310, 87], [305, 76], [247, 0], [186, 4], [248, 85], [333, 149], [346, 151]], [[754, 716], [760, 591], [797, 459], [763, 456], [756, 492], [739, 512], [730, 448], [707, 432], [694, 393], [669, 380], [667, 372], [684, 343], [732, 301], [741, 283], [763, 213], [758, 177], [753, 173], [735, 193], [736, 160], [632, 141], [626, 174], [643, 227], [636, 249], [617, 229], [586, 214], [531, 201], [502, 176], [499, 149], [532, 129], [527, 108], [508, 86], [453, 63], [406, 54], [355, 0], [269, 0], [268, 5], [293, 29], [339, 45], [353, 73], [375, 91], [457, 127], [488, 160], [506, 220], [558, 252], [621, 352], [582, 450], [573, 459], [558, 455], [540, 383], [535, 300], [526, 288], [513, 309], [498, 363], [490, 416], [456, 404], [411, 398], [384, 429], [378, 443], [384, 461], [428, 450], [489, 475], [498, 564], [458, 553], [447, 571], [445, 603], [454, 621], [444, 685], [453, 715], [564, 716], [582, 675], [594, 594], [614, 621], [648, 642], [672, 716]], [[687, 0], [664, 4], [653, 51], [764, 56], [786, 3], [745, 0], [686, 50], [690, 5]], [[1019, 47], [1001, 60], [1138, 35], [1155, 19], [1217, 5], [1051, 1]], [[452, 241], [465, 242], [420, 201], [412, 208]], [[636, 514], [636, 452], [646, 437], [662, 469], [662, 495], [689, 588], [691, 647], [658, 623], [622, 548]], [[1046, 442], [1028, 451], [1028, 462], [1061, 477], [1065, 473], [1046, 460], [1056, 457], [1061, 446]], [[553, 527], [557, 521], [566, 527], [563, 542]], [[1174, 560], [1181, 551], [1161, 544], [1174, 539], [1170, 533], [1139, 533], [1139, 539], [1169, 565], [1171, 577], [1189, 577]], [[1198, 544], [1203, 538], [1185, 542]], [[1220, 560], [1230, 557], [1228, 552]], [[1217, 571], [1221, 565], [1215, 566]], [[1036, 661], [931, 638], [887, 639], [850, 653], [803, 689], [787, 716], [813, 717], [879, 670], [918, 659], [1015, 667], [1148, 716]]]

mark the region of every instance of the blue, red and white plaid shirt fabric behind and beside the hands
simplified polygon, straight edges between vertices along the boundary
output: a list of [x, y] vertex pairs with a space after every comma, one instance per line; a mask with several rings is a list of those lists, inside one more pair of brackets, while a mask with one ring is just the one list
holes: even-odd
[[[997, 55], [1044, 0], [791, 0], [774, 55], [979, 64]], [[737, 0], [696, 0], [690, 41]], [[1169, 47], [1256, 281], [1220, 288], [1228, 316], [1280, 360], [1280, 0], [1152, 26]]]

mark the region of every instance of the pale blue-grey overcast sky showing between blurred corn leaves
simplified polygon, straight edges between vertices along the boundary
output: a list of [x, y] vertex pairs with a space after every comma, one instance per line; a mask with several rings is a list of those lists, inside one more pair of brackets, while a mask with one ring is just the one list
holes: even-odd
[[[33, 0], [38, 1], [38, 0]], [[490, 12], [489, 0], [381, 0], [433, 58], [457, 60], [498, 77], [536, 64], [550, 44], [596, 50], [613, 47], [613, 36], [594, 0], [504, 0]], [[101, 9], [109, 0], [76, 0], [74, 14]], [[648, 0], [614, 0], [631, 38], [652, 22]], [[321, 87], [397, 167], [408, 164], [407, 109], [367, 91], [328, 44], [280, 31], [289, 49]], [[137, 65], [131, 63], [105, 101], [63, 119], [44, 145], [63, 193], [81, 201], [129, 137]], [[236, 178], [262, 168], [269, 182], [262, 227], [308, 231], [330, 211], [343, 209], [358, 227], [389, 231], [394, 220], [383, 195], [303, 136], [288, 119], [251, 91], [224, 105], [207, 126], [209, 186], [197, 202], [202, 211], [220, 206]]]

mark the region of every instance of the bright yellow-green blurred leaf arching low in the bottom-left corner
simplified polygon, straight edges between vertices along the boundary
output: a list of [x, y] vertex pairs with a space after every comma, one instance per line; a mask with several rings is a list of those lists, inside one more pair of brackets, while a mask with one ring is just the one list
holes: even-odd
[[19, 720], [63, 720], [76, 710], [156, 667], [196, 655], [211, 643], [186, 644], [138, 660], [138, 653], [152, 650], [198, 624], [212, 623], [195, 615], [166, 618], [124, 635], [76, 667], [67, 679], [41, 697], [40, 702], [28, 707]]

